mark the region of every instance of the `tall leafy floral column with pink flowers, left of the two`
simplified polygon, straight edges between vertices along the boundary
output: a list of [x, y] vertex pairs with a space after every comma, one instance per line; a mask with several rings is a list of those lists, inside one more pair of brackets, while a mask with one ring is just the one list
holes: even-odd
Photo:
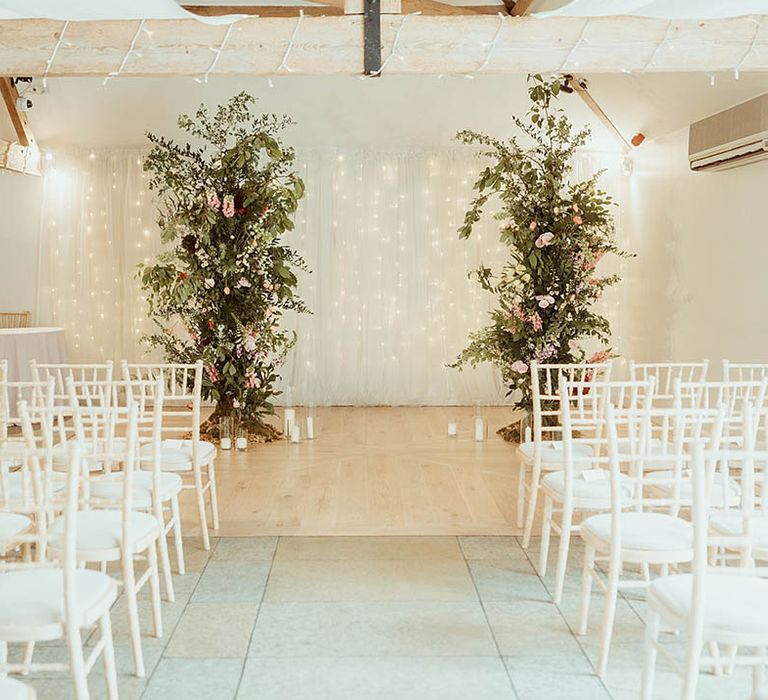
[[196, 145], [147, 134], [144, 169], [162, 202], [167, 249], [140, 266], [158, 332], [145, 340], [171, 362], [206, 364], [203, 393], [219, 415], [246, 421], [273, 412], [279, 368], [295, 343], [283, 311], [306, 312], [296, 296], [303, 259], [283, 245], [304, 196], [293, 149], [280, 142], [287, 117], [254, 116], [245, 92], [212, 116], [201, 106], [178, 126]]

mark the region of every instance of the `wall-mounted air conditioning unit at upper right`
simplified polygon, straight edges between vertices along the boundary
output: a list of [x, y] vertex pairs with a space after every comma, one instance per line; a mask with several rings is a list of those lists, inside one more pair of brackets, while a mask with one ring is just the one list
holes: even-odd
[[768, 94], [694, 122], [688, 131], [691, 170], [726, 170], [768, 158]]

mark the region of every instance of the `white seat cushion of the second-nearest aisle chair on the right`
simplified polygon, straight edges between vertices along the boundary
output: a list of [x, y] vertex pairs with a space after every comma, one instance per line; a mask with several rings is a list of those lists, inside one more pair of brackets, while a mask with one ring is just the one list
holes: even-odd
[[[606, 549], [611, 543], [611, 514], [601, 513], [581, 524], [585, 539]], [[682, 518], [664, 513], [621, 514], [621, 548], [642, 551], [680, 551], [693, 547], [693, 527]]]

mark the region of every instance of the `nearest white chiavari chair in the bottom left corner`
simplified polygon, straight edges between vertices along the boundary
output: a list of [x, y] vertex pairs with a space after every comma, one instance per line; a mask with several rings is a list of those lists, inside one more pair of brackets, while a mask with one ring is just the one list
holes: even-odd
[[[24, 403], [20, 405], [19, 413], [28, 448], [22, 469], [28, 473], [28, 478], [24, 481], [24, 492], [15, 494], [12, 503], [15, 512], [25, 514], [37, 525], [25, 535], [35, 547], [35, 556], [32, 561], [5, 564], [0, 572], [0, 646], [7, 648], [9, 643], [18, 643], [31, 650], [36, 642], [64, 639], [68, 660], [65, 663], [34, 663], [31, 653], [27, 653], [20, 663], [8, 663], [3, 655], [0, 673], [66, 671], [72, 676], [75, 698], [87, 700], [87, 676], [101, 656], [107, 698], [116, 700], [110, 608], [117, 599], [117, 582], [102, 572], [80, 568], [75, 555], [81, 446], [72, 445], [65, 488], [51, 496], [42, 486], [44, 469], [50, 470], [50, 466], [43, 466], [50, 459], [50, 450], [38, 447], [39, 438]], [[54, 411], [46, 409], [43, 413], [45, 421], [61, 420]], [[46, 525], [55, 516], [62, 523], [57, 535]], [[55, 558], [49, 556], [54, 538], [59, 547]], [[99, 639], [88, 649], [86, 656], [82, 631], [89, 631], [96, 625], [100, 630]]]

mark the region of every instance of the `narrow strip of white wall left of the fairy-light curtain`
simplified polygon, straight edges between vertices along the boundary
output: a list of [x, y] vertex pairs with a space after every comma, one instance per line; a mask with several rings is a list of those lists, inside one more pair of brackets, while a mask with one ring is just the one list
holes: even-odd
[[0, 170], [0, 311], [34, 314], [42, 188], [42, 178]]

